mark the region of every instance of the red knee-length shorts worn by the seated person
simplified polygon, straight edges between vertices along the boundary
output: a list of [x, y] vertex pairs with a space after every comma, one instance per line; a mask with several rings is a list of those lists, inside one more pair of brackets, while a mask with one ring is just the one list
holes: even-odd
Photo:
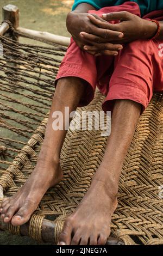
[[[101, 15], [123, 10], [140, 16], [139, 5], [134, 2], [90, 13]], [[143, 17], [148, 18], [163, 20], [163, 10], [153, 11]], [[90, 103], [97, 86], [106, 95], [102, 105], [105, 112], [112, 111], [117, 99], [139, 102], [143, 112], [151, 101], [153, 92], [163, 91], [163, 57], [159, 54], [160, 44], [163, 44], [163, 40], [137, 40], [123, 45], [118, 56], [95, 57], [80, 50], [71, 38], [56, 81], [61, 77], [71, 76], [88, 82], [79, 107]]]

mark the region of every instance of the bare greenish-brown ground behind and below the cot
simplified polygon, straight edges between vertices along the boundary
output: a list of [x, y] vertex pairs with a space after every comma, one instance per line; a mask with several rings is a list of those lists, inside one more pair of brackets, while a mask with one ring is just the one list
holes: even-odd
[[[7, 4], [16, 5], [20, 10], [20, 27], [70, 36], [66, 30], [65, 20], [73, 2], [73, 0], [0, 0], [0, 10]], [[0, 20], [2, 21], [2, 11], [0, 11]], [[0, 245], [39, 244], [29, 237], [18, 237], [0, 231]]]

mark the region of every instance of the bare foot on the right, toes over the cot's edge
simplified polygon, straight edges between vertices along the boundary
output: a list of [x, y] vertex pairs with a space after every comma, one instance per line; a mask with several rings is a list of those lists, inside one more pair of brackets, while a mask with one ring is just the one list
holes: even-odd
[[93, 179], [82, 202], [65, 221], [58, 245], [105, 245], [116, 208], [116, 197], [109, 196], [103, 182]]

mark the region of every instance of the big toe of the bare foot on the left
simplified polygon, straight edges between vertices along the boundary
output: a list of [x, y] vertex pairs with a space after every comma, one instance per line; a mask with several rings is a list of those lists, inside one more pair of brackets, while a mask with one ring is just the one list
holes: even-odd
[[22, 225], [29, 221], [31, 215], [31, 212], [22, 207], [20, 210], [18, 210], [17, 214], [12, 217], [11, 223], [14, 226]]

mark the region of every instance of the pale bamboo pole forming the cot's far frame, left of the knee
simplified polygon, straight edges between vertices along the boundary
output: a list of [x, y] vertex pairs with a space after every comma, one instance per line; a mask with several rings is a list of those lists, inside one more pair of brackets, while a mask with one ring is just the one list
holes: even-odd
[[54, 35], [48, 32], [34, 31], [32, 29], [18, 27], [16, 29], [19, 32], [26, 34], [27, 36], [34, 36], [36, 39], [42, 39], [49, 42], [54, 42], [62, 46], [68, 46], [70, 44], [70, 38], [61, 35]]

